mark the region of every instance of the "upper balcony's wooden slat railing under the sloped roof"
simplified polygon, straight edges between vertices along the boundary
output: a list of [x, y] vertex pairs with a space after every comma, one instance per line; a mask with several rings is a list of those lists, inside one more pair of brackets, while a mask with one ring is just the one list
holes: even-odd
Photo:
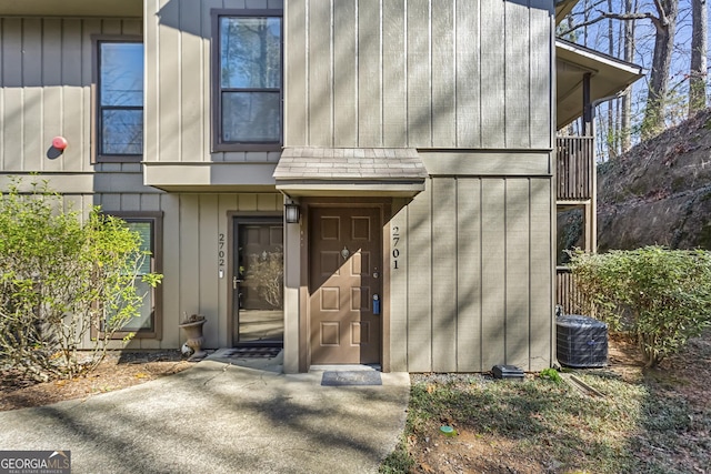
[[555, 140], [559, 201], [593, 198], [594, 138], [559, 137]]

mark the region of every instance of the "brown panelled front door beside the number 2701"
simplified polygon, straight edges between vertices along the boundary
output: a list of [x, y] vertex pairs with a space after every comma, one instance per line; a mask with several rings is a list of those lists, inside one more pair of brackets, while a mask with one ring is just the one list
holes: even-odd
[[313, 209], [309, 229], [312, 364], [380, 363], [381, 316], [374, 314], [373, 296], [381, 294], [381, 233], [378, 208]]

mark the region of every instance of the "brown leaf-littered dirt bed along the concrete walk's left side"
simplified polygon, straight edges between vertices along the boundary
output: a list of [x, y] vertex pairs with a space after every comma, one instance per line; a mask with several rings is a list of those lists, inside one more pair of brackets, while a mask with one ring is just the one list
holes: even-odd
[[87, 399], [172, 375], [192, 365], [181, 357], [179, 351], [161, 351], [109, 354], [94, 372], [72, 380], [32, 383], [18, 380], [11, 372], [2, 372], [0, 411]]

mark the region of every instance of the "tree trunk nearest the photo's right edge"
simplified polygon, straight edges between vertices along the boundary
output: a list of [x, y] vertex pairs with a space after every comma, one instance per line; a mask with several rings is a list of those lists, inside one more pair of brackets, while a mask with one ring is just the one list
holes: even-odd
[[707, 0], [691, 0], [691, 69], [689, 71], [689, 117], [707, 107]]

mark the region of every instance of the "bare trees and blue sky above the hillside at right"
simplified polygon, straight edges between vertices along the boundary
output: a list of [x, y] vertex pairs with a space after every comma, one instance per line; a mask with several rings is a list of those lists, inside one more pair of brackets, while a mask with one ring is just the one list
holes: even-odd
[[[621, 99], [598, 105], [603, 161], [679, 123], [692, 108], [705, 107], [707, 33], [701, 30], [707, 16], [705, 0], [585, 0], [561, 23], [564, 38], [612, 51], [648, 71], [647, 81], [637, 82]], [[692, 24], [692, 17], [699, 21]], [[620, 28], [611, 28], [610, 20], [619, 20]]]

